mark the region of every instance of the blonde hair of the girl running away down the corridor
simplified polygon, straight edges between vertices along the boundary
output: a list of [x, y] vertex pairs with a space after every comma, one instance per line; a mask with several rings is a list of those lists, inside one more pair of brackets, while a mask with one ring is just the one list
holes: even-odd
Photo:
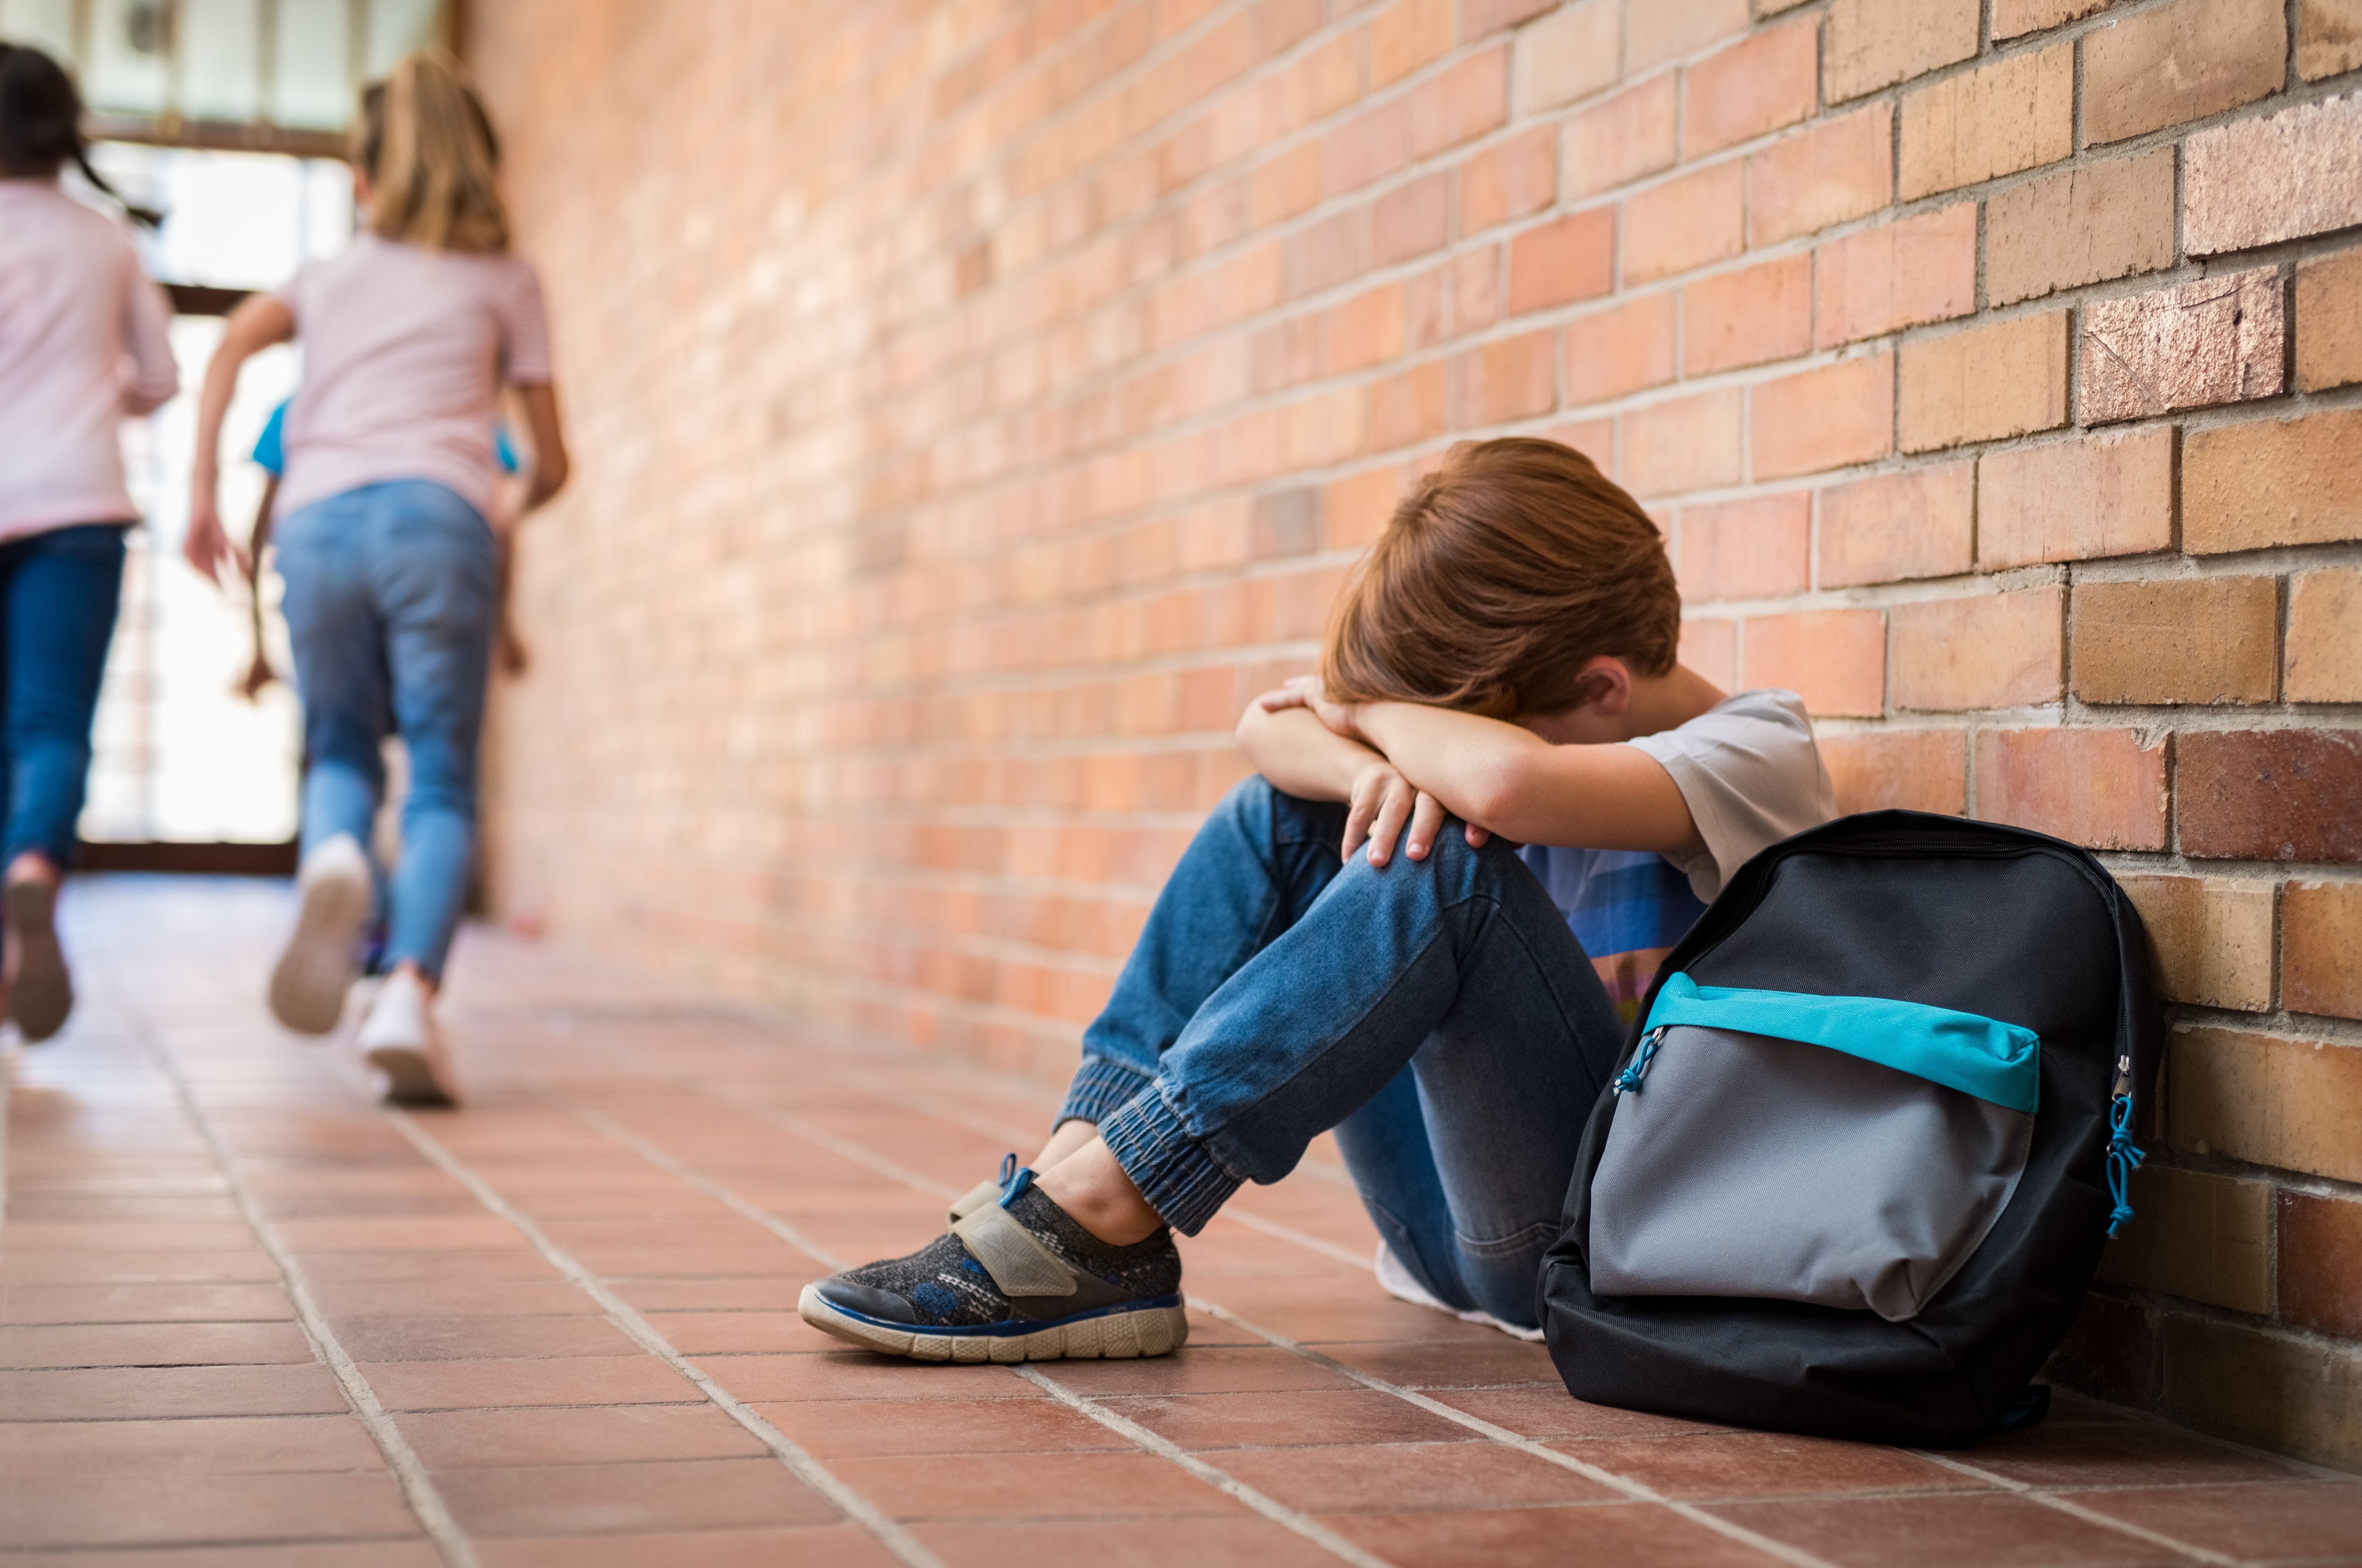
[[404, 54], [361, 92], [352, 161], [373, 191], [368, 231], [428, 250], [508, 250], [491, 118], [444, 50]]

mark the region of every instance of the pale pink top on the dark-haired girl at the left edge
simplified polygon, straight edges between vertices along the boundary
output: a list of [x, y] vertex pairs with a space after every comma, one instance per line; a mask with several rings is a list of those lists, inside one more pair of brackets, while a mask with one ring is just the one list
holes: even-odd
[[139, 517], [123, 420], [180, 390], [170, 324], [120, 224], [0, 179], [0, 541]]

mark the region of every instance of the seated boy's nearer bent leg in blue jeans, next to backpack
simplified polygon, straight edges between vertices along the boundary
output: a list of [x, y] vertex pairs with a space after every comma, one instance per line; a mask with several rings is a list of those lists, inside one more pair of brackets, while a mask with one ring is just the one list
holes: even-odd
[[[1410, 1065], [1464, 1294], [1533, 1322], [1538, 1261], [1620, 1039], [1533, 874], [1507, 845], [1472, 850], [1443, 834], [1424, 862], [1346, 864], [1205, 1001], [1155, 1084], [1101, 1136], [1148, 1204], [1195, 1233], [1238, 1185], [1285, 1176], [1313, 1136]], [[1403, 1200], [1415, 1162], [1389, 1193], [1389, 1171], [1370, 1169], [1358, 1143], [1372, 1202], [1415, 1209], [1394, 1219], [1429, 1230], [1431, 1204]], [[1422, 1235], [1415, 1252], [1441, 1247]]]

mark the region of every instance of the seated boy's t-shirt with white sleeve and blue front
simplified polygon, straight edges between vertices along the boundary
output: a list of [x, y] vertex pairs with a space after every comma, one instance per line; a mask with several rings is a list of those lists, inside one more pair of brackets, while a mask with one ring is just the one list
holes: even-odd
[[1531, 843], [1526, 864], [1627, 1018], [1656, 966], [1760, 850], [1838, 815], [1828, 770], [1795, 692], [1741, 692], [1632, 741], [1653, 756], [1698, 824], [1696, 855]]

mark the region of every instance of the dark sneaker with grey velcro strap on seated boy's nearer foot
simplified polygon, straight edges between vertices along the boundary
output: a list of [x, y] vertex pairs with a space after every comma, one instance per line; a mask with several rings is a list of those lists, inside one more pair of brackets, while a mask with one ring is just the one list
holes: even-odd
[[803, 1287], [822, 1334], [912, 1360], [1164, 1355], [1188, 1339], [1172, 1230], [1113, 1247], [1016, 1171], [999, 1202], [907, 1259]]

